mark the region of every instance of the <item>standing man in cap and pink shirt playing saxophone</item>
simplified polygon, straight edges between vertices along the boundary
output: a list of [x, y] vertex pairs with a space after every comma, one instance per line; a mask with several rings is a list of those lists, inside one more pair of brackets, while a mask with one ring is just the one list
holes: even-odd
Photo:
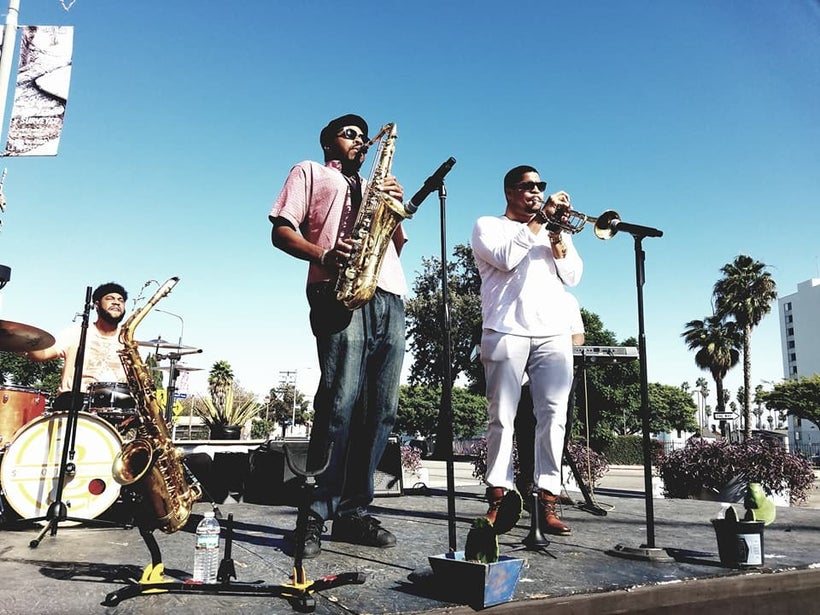
[[[321, 468], [331, 450], [313, 491], [305, 558], [321, 552], [328, 521], [332, 540], [379, 548], [396, 544], [395, 536], [367, 514], [367, 506], [396, 418], [405, 348], [402, 296], [407, 293], [399, 261], [406, 238], [399, 224], [373, 298], [353, 310], [337, 299], [336, 280], [353, 249], [351, 230], [365, 187], [359, 169], [367, 153], [367, 122], [353, 114], [337, 117], [321, 130], [319, 143], [324, 163], [296, 164], [268, 216], [273, 245], [309, 263], [307, 298], [321, 376], [308, 469]], [[390, 174], [375, 188], [399, 201], [404, 195]]]

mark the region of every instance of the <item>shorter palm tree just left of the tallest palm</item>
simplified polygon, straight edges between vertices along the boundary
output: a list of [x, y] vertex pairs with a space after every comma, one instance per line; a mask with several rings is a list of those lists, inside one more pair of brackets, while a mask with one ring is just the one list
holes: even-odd
[[723, 412], [725, 397], [723, 379], [731, 368], [740, 361], [740, 333], [734, 322], [723, 320], [717, 315], [703, 320], [690, 320], [681, 334], [689, 350], [695, 353], [695, 365], [712, 374], [717, 388], [717, 412]]

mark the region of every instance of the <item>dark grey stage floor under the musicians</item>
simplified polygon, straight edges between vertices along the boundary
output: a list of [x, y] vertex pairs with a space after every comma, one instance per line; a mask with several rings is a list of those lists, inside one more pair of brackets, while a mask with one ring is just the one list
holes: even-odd
[[[572, 493], [571, 495], [579, 495]], [[457, 486], [454, 494], [457, 550], [464, 547], [472, 519], [486, 509], [480, 485]], [[710, 519], [714, 502], [653, 500], [654, 544], [671, 562], [632, 560], [607, 551], [646, 543], [646, 501], [641, 493], [599, 489], [595, 502], [607, 511], [593, 515], [565, 506], [572, 527], [568, 537], [552, 537], [545, 551], [515, 550], [529, 533], [524, 516], [501, 537], [501, 553], [525, 559], [511, 602], [494, 612], [552, 613], [794, 613], [820, 609], [820, 510], [778, 508], [764, 532], [764, 565], [737, 570], [720, 565]], [[581, 501], [582, 502], [582, 501]], [[117, 506], [104, 517], [117, 516]], [[194, 528], [202, 513], [197, 503], [188, 525], [170, 535], [156, 532], [168, 576], [190, 577]], [[296, 511], [228, 501], [218, 504], [223, 523], [234, 519], [232, 559], [238, 581], [285, 583], [292, 559], [283, 551], [283, 534], [293, 529]], [[472, 606], [450, 602], [448, 587], [411, 582], [427, 572], [428, 557], [449, 550], [448, 498], [442, 489], [377, 498], [372, 512], [398, 538], [391, 549], [323, 541], [319, 558], [306, 560], [310, 579], [361, 572], [366, 581], [314, 595], [316, 613], [470, 613]], [[6, 524], [0, 530], [0, 613], [290, 613], [282, 598], [164, 593], [136, 596], [116, 607], [102, 606], [110, 592], [137, 578], [149, 562], [136, 529], [59, 526], [37, 548], [29, 546], [40, 526]], [[223, 543], [224, 544], [224, 543]], [[435, 580], [435, 578], [434, 578]]]

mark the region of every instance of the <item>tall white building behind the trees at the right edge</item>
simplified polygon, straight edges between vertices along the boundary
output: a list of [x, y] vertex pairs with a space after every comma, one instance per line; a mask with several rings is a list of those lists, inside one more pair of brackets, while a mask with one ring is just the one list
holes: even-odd
[[[820, 373], [820, 278], [797, 285], [797, 292], [777, 300], [783, 376]], [[789, 450], [820, 453], [820, 429], [811, 421], [789, 416]]]

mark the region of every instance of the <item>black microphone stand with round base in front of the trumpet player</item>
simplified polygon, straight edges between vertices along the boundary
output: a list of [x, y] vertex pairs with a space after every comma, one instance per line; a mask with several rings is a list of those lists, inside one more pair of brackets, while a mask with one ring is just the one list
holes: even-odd
[[609, 555], [653, 562], [672, 562], [664, 549], [655, 546], [655, 511], [652, 501], [652, 441], [649, 438], [649, 383], [646, 367], [646, 328], [644, 326], [643, 285], [645, 281], [644, 261], [646, 254], [641, 241], [644, 237], [662, 237], [663, 232], [638, 224], [627, 224], [620, 220], [609, 224], [613, 233], [627, 231], [635, 239], [635, 285], [638, 299], [638, 360], [641, 379], [641, 431], [643, 436], [644, 500], [646, 502], [646, 543], [638, 548], [617, 544], [606, 552]]

